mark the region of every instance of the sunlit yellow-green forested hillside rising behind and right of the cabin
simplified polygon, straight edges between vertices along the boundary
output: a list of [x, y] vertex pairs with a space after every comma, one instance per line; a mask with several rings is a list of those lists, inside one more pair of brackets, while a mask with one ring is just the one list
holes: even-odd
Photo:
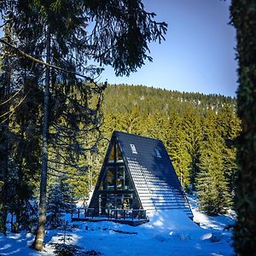
[[[198, 192], [202, 209], [216, 214], [231, 207], [240, 131], [235, 99], [115, 84], [105, 91], [103, 113], [108, 139], [117, 130], [162, 140], [183, 188]], [[99, 148], [100, 159], [107, 145]]]

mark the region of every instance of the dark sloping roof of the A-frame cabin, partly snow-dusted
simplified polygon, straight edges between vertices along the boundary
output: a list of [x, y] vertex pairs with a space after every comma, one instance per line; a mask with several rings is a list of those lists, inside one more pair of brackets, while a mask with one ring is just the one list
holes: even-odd
[[[181, 209], [193, 217], [164, 144], [120, 131], [114, 131], [113, 136], [117, 138], [143, 208]], [[132, 153], [131, 144], [137, 154]]]

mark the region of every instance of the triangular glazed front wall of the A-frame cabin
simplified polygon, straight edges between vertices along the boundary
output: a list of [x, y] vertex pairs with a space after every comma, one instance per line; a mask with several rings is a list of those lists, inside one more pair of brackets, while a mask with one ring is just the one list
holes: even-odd
[[95, 209], [96, 215], [107, 214], [108, 209], [143, 208], [114, 133], [89, 207]]

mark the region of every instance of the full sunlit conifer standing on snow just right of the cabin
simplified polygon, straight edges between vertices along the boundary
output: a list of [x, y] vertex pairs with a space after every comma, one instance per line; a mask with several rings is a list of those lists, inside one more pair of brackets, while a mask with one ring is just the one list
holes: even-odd
[[196, 177], [196, 189], [201, 209], [207, 214], [224, 213], [230, 207], [228, 183], [224, 177], [224, 143], [216, 131], [214, 113], [206, 120], [204, 138], [200, 150], [200, 171]]

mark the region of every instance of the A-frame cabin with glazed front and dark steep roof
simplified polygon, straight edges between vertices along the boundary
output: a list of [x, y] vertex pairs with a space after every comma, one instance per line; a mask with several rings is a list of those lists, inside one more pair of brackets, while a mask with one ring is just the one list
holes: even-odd
[[164, 144], [120, 131], [113, 132], [89, 207], [100, 217], [111, 210], [180, 209], [193, 218]]

